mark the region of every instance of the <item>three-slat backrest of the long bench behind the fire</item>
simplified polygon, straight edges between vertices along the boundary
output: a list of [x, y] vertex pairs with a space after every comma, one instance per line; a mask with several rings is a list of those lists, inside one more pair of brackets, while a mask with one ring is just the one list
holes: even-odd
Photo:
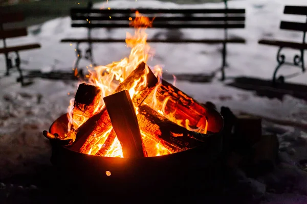
[[245, 9], [71, 9], [72, 27], [128, 28], [135, 12], [153, 20], [152, 28], [235, 29], [245, 27]]

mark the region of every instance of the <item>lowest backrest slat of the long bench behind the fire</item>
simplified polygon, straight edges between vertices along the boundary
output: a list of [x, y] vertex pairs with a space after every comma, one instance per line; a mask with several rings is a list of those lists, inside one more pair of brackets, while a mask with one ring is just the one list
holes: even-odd
[[[128, 23], [72, 23], [73, 28], [129, 28]], [[238, 29], [245, 28], [244, 23], [232, 23], [232, 24], [158, 24], [153, 22], [153, 28], [166, 28], [166, 29]]]

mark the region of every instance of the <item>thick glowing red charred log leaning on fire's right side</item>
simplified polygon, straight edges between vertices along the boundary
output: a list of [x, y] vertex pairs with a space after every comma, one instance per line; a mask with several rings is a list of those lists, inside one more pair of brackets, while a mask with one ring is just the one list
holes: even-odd
[[[218, 113], [215, 110], [205, 108], [168, 82], [162, 80], [155, 91], [155, 95], [150, 94], [145, 100], [145, 103], [150, 107], [153, 103], [156, 103], [155, 107], [159, 107], [160, 110], [164, 107], [166, 114], [172, 114], [176, 119], [182, 121], [188, 119], [192, 128], [201, 127], [205, 129], [207, 120], [208, 132], [218, 133], [222, 130], [223, 118], [217, 115]], [[169, 98], [167, 103], [163, 103], [167, 97]], [[203, 131], [203, 133], [206, 133], [206, 131]]]

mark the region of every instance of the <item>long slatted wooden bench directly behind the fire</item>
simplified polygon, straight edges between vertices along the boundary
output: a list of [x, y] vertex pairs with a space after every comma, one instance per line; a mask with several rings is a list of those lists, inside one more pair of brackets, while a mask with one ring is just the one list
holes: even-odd
[[[93, 43], [117, 43], [125, 42], [125, 39], [92, 38], [91, 31], [97, 28], [117, 29], [129, 28], [129, 18], [135, 17], [135, 12], [148, 16], [153, 20], [153, 29], [222, 29], [224, 35], [217, 39], [148, 39], [150, 43], [207, 43], [223, 45], [222, 50], [222, 80], [225, 79], [224, 68], [226, 65], [226, 44], [245, 43], [245, 39], [228, 37], [228, 29], [245, 28], [245, 9], [93, 9], [90, 3], [87, 8], [72, 8], [71, 19], [73, 28], [87, 28], [88, 34], [83, 39], [67, 38], [61, 42], [76, 43], [77, 60], [74, 67], [77, 68], [80, 59], [85, 58], [95, 65], [92, 56]], [[111, 18], [110, 18], [111, 16]], [[80, 43], [88, 43], [83, 57], [79, 48]]]

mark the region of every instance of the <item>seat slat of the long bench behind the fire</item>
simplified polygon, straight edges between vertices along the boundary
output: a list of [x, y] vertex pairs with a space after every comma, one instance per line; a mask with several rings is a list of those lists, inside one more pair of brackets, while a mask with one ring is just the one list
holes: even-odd
[[[75, 42], [75, 43], [81, 43], [81, 42], [92, 42], [92, 43], [115, 43], [115, 42], [125, 42], [125, 39], [62, 39], [61, 42]], [[245, 43], [245, 39], [241, 38], [235, 38], [235, 39], [200, 39], [200, 40], [193, 40], [193, 39], [170, 39], [170, 40], [160, 40], [160, 39], [148, 39], [147, 42], [156, 43]]]

